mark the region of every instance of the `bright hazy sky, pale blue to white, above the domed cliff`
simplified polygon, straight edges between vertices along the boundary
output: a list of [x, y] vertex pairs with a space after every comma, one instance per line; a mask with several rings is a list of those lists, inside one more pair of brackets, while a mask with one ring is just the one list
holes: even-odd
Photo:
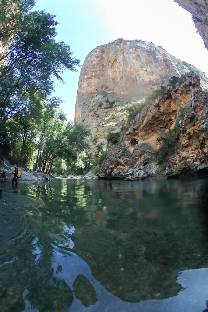
[[[57, 41], [65, 41], [79, 58], [96, 46], [118, 38], [141, 39], [162, 46], [168, 53], [204, 71], [208, 76], [208, 51], [197, 34], [191, 14], [173, 0], [37, 0], [36, 10], [56, 15]], [[66, 84], [56, 83], [61, 108], [74, 120], [78, 72], [65, 71]]]

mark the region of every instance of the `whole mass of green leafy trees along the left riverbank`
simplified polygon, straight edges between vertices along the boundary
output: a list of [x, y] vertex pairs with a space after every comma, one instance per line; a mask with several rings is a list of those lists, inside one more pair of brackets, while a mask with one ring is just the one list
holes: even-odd
[[51, 96], [52, 77], [63, 82], [63, 71], [76, 71], [80, 61], [70, 46], [56, 42], [54, 15], [30, 12], [34, 3], [0, 3], [0, 156], [44, 172], [57, 159], [62, 173], [88, 147], [90, 131], [66, 123], [61, 100]]

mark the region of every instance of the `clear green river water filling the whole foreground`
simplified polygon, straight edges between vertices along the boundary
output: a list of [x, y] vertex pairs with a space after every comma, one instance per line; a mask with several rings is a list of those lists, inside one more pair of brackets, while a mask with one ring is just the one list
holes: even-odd
[[1, 187], [1, 312], [206, 310], [208, 178]]

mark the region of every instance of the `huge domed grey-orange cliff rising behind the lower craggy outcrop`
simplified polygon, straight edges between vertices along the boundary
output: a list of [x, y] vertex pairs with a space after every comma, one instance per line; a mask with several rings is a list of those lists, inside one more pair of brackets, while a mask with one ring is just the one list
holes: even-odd
[[75, 123], [89, 126], [94, 144], [106, 145], [107, 134], [120, 131], [126, 123], [127, 105], [167, 85], [172, 76], [189, 71], [199, 75], [201, 86], [208, 88], [204, 73], [153, 43], [118, 39], [98, 46], [82, 66]]

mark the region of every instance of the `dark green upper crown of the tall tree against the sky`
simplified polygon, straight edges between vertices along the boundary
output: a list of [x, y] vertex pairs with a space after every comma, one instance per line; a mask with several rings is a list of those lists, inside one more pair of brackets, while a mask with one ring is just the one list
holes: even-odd
[[44, 11], [24, 15], [5, 66], [0, 68], [0, 131], [6, 120], [30, 107], [36, 93], [51, 95], [52, 76], [76, 71], [79, 60], [64, 42], [56, 42], [57, 22]]

